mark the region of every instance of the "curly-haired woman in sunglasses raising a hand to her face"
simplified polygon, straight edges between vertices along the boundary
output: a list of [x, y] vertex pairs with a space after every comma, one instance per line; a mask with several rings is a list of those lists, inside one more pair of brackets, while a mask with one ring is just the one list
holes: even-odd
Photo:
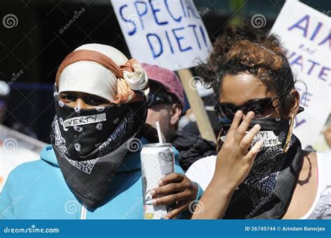
[[330, 219], [330, 155], [302, 150], [293, 135], [303, 108], [278, 36], [228, 27], [198, 71], [222, 131], [217, 156], [186, 172], [205, 189], [193, 218]]

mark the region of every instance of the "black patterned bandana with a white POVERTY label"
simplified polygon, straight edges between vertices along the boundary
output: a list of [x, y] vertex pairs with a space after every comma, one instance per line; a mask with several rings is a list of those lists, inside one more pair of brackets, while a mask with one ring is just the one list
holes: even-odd
[[95, 109], [69, 107], [54, 92], [51, 143], [66, 184], [88, 208], [98, 207], [147, 117], [145, 101]]

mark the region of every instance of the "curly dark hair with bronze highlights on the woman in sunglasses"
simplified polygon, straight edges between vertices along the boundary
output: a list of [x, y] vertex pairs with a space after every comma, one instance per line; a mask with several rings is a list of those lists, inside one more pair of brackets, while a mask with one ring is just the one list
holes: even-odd
[[268, 90], [277, 92], [281, 113], [287, 112], [293, 101], [289, 92], [295, 88], [295, 79], [279, 37], [268, 30], [255, 29], [248, 22], [227, 27], [213, 44], [207, 63], [200, 64], [196, 71], [204, 84], [214, 89], [217, 100], [226, 75], [250, 73]]

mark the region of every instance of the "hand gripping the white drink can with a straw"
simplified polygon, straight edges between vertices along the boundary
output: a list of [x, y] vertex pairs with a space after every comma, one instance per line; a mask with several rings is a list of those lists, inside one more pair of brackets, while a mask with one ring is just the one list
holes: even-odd
[[175, 209], [165, 216], [165, 219], [176, 218], [182, 211], [189, 209], [189, 204], [196, 200], [198, 185], [185, 174], [171, 173], [159, 181], [159, 187], [151, 191], [152, 204], [172, 204], [177, 202]]

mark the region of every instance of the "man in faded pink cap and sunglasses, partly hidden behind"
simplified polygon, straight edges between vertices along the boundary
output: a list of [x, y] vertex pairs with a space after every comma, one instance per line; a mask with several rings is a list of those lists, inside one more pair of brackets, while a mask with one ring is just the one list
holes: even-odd
[[186, 171], [205, 156], [216, 155], [215, 144], [198, 135], [178, 131], [184, 108], [184, 88], [175, 73], [155, 65], [142, 64], [149, 77], [147, 124], [159, 121], [165, 140], [179, 151], [179, 165]]

